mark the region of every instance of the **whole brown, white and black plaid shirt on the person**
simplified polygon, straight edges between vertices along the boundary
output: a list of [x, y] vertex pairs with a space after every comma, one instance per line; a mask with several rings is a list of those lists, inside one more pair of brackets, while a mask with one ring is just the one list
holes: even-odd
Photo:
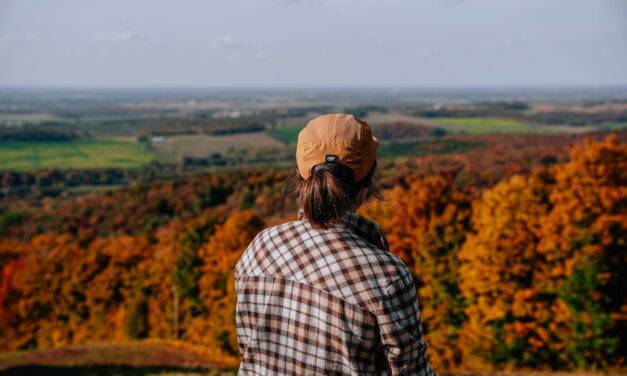
[[235, 287], [240, 375], [434, 375], [412, 276], [357, 214], [265, 229]]

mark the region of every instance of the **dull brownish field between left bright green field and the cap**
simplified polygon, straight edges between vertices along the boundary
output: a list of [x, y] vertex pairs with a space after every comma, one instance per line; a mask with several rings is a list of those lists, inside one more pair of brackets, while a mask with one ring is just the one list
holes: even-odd
[[164, 142], [154, 143], [157, 160], [180, 162], [184, 156], [202, 158], [229, 149], [283, 147], [283, 144], [266, 132], [247, 132], [209, 136], [204, 134], [165, 137]]

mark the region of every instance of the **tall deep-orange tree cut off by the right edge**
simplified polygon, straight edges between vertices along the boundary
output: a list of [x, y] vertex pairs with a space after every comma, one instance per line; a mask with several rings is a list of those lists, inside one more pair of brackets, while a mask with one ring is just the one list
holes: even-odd
[[561, 344], [558, 364], [621, 363], [627, 352], [627, 144], [615, 136], [586, 140], [571, 158], [555, 166], [552, 210], [542, 218], [538, 245], [542, 289], [563, 302], [569, 317], [552, 331]]

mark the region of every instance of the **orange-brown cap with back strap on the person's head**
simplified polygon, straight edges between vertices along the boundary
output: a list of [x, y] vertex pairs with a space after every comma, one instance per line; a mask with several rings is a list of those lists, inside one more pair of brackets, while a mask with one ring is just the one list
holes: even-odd
[[365, 178], [377, 158], [379, 140], [370, 126], [353, 115], [318, 116], [298, 134], [296, 165], [303, 179], [321, 163], [335, 162], [350, 167], [355, 181]]

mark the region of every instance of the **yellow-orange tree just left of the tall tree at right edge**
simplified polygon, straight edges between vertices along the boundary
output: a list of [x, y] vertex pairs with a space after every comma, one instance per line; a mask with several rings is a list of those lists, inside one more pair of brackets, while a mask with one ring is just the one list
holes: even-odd
[[[532, 336], [532, 311], [547, 308], [529, 304], [537, 296], [533, 271], [541, 263], [537, 243], [545, 211], [541, 195], [521, 176], [501, 181], [473, 205], [476, 233], [459, 252], [460, 289], [469, 304], [459, 346], [470, 368], [489, 368], [499, 360], [491, 359], [498, 346]], [[509, 322], [518, 323], [511, 332]]]

